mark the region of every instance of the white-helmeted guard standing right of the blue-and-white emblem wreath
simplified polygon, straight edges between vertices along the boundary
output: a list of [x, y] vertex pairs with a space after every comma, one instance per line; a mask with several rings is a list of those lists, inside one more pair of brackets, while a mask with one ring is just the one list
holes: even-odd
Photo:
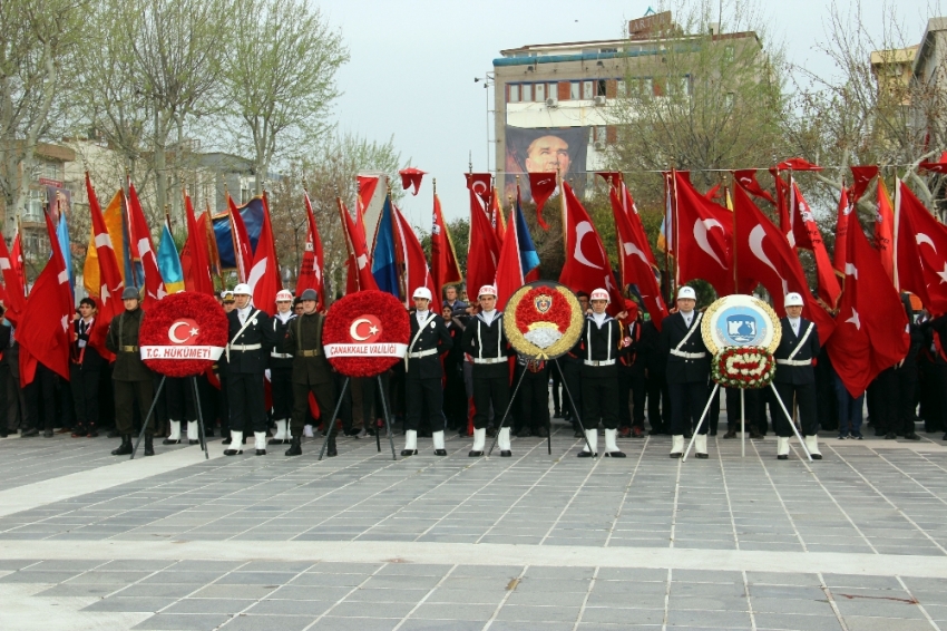
[[[812, 360], [819, 357], [819, 331], [816, 322], [802, 318], [802, 297], [795, 292], [785, 294], [785, 318], [780, 319], [782, 339], [773, 357], [777, 360], [777, 373], [773, 385], [782, 405], [792, 414], [792, 399], [799, 405], [799, 420], [806, 447], [816, 460], [819, 453], [819, 418], [816, 414], [816, 368]], [[790, 419], [779, 410], [773, 419], [778, 436], [777, 458], [789, 458], [789, 438], [792, 436]]]

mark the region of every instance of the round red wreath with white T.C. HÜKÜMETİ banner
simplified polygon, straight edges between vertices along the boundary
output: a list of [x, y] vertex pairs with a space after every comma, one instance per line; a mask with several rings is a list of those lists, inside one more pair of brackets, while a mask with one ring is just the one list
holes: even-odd
[[138, 346], [155, 372], [193, 377], [219, 358], [227, 346], [227, 316], [216, 300], [185, 291], [166, 295], [145, 312]]

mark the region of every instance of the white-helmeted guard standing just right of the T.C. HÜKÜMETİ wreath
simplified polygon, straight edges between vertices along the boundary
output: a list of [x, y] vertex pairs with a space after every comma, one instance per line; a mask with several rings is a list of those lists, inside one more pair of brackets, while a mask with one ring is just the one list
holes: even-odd
[[274, 346], [275, 336], [270, 316], [251, 302], [250, 285], [234, 288], [236, 308], [227, 313], [230, 323], [226, 348], [227, 396], [231, 408], [230, 449], [225, 456], [236, 456], [243, 449], [243, 429], [253, 428], [256, 455], [266, 455], [266, 407], [263, 397], [263, 373]]

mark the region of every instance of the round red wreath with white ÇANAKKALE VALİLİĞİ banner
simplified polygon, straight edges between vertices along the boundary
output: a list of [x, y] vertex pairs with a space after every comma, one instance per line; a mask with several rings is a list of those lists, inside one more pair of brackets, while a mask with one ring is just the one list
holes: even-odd
[[346, 377], [374, 377], [398, 363], [411, 324], [401, 301], [383, 291], [350, 293], [325, 316], [322, 344], [332, 367]]

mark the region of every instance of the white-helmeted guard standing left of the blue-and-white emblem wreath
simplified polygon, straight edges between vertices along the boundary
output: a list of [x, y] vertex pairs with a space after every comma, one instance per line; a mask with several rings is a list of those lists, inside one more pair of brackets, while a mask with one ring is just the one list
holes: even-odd
[[[697, 295], [693, 288], [677, 290], [677, 312], [661, 323], [661, 352], [667, 355], [667, 391], [671, 395], [671, 457], [684, 455], [684, 433], [690, 434], [691, 423], [696, 426], [707, 402], [710, 352], [701, 337], [703, 313], [694, 311]], [[690, 418], [689, 418], [690, 414]], [[707, 457], [707, 429], [701, 426], [694, 439], [694, 455]]]

